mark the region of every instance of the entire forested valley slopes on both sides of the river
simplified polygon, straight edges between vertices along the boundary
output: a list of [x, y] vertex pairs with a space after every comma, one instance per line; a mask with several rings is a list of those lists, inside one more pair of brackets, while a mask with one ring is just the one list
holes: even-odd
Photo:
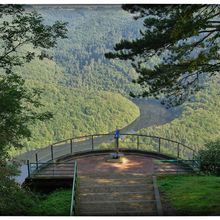
[[[51, 121], [32, 126], [33, 138], [25, 140], [25, 146], [40, 147], [71, 136], [108, 132], [134, 120], [139, 110], [123, 96], [140, 89], [131, 82], [136, 73], [129, 62], [105, 59], [104, 53], [122, 38], [135, 39], [141, 20], [133, 20], [119, 5], [31, 6], [28, 10], [33, 8], [47, 24], [57, 19], [68, 22], [68, 38], [50, 51], [54, 61], [34, 60], [16, 69], [28, 87], [43, 89], [44, 108], [54, 113]], [[151, 61], [159, 62], [155, 57]], [[205, 91], [196, 94], [195, 102], [184, 104], [180, 118], [141, 132], [192, 146], [217, 139], [219, 80], [213, 78]]]

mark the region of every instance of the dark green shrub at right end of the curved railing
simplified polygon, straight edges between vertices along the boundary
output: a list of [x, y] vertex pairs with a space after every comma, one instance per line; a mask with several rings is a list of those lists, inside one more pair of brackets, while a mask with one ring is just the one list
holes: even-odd
[[220, 175], [220, 140], [207, 143], [205, 149], [198, 152], [198, 160], [201, 171]]

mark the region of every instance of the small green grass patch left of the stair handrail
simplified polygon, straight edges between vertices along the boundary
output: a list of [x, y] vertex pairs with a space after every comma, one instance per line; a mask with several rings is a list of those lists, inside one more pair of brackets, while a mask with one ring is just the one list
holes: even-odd
[[71, 189], [63, 189], [49, 194], [30, 210], [31, 215], [68, 216], [70, 214], [71, 193]]

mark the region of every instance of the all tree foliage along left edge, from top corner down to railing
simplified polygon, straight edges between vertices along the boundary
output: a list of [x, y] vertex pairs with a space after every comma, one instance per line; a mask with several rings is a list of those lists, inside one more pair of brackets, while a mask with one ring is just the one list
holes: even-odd
[[[7, 147], [19, 147], [19, 139], [30, 137], [30, 123], [51, 118], [49, 112], [37, 113], [40, 90], [28, 91], [13, 67], [38, 57], [48, 57], [45, 50], [66, 38], [66, 23], [45, 25], [35, 11], [20, 5], [0, 5], [0, 158], [7, 157]], [[1, 164], [0, 164], [1, 165]]]

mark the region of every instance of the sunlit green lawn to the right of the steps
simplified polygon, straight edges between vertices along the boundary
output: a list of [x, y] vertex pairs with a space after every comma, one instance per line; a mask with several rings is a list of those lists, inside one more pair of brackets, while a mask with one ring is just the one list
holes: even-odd
[[220, 177], [167, 175], [158, 186], [176, 215], [220, 215]]

